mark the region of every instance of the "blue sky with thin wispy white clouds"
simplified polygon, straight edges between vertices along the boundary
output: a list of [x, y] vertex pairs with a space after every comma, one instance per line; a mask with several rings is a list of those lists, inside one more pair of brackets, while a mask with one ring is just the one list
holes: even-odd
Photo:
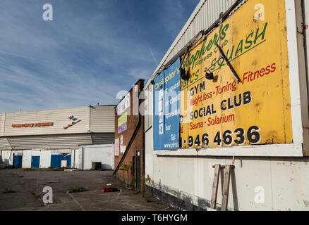
[[[199, 0], [1, 0], [0, 113], [116, 104]], [[44, 4], [53, 21], [44, 21]], [[91, 3], [91, 4], [90, 4]]]

